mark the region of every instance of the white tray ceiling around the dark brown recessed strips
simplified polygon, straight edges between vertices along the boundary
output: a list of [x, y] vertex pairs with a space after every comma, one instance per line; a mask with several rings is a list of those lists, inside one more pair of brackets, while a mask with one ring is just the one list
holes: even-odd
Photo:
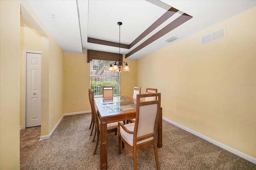
[[[119, 53], [118, 47], [88, 43], [95, 38], [129, 45], [169, 8], [179, 10], [130, 49], [126, 55], [178, 16], [186, 13], [193, 18], [156, 41], [130, 55], [139, 59], [167, 45], [176, 43], [202, 29], [226, 20], [256, 6], [256, 0], [28, 0], [44, 25], [65, 52], [82, 53], [83, 49]], [[52, 15], [55, 18], [52, 18]], [[25, 18], [26, 19], [26, 18]], [[242, 23], [241, 23], [242, 24]], [[177, 40], [167, 43], [172, 36]]]

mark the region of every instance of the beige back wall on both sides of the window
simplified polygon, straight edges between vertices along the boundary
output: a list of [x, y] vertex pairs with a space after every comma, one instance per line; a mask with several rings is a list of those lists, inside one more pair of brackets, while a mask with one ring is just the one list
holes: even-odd
[[[132, 87], [136, 86], [136, 60], [124, 59], [130, 72], [121, 72], [121, 95], [132, 96]], [[90, 88], [90, 63], [87, 63], [87, 50], [83, 54], [64, 53], [64, 113], [90, 111], [88, 98]], [[76, 105], [72, 105], [72, 102]]]

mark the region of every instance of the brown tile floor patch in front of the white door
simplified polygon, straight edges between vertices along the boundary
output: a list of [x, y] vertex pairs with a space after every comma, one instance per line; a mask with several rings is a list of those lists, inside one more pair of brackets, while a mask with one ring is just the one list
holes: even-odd
[[20, 168], [40, 143], [40, 136], [41, 126], [28, 127], [20, 130]]

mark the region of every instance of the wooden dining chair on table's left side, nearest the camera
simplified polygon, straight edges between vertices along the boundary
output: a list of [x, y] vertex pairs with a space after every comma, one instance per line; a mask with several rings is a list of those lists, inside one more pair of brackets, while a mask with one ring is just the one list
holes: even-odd
[[[97, 135], [96, 144], [95, 144], [95, 148], [94, 148], [94, 152], [93, 152], [93, 155], [94, 155], [96, 153], [98, 143], [99, 143], [99, 138], [100, 138], [100, 119], [98, 117], [98, 109], [97, 109], [97, 106], [95, 103], [94, 94], [93, 94], [92, 90], [90, 90], [90, 98], [92, 101], [92, 106], [94, 106], [94, 107], [92, 107], [92, 112], [94, 114], [94, 124], [95, 124], [95, 131], [94, 131], [94, 136], [93, 136], [92, 142], [94, 142], [94, 139]], [[115, 134], [117, 134], [117, 127], [118, 127], [118, 122], [108, 123], [107, 124], [107, 129], [108, 129], [107, 132], [108, 133], [115, 132]]]

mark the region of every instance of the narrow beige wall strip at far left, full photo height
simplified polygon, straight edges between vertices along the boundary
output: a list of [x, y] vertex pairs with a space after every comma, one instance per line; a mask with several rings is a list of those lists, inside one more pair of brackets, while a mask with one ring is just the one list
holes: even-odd
[[20, 169], [20, 1], [0, 0], [0, 37], [0, 169], [18, 170]]

